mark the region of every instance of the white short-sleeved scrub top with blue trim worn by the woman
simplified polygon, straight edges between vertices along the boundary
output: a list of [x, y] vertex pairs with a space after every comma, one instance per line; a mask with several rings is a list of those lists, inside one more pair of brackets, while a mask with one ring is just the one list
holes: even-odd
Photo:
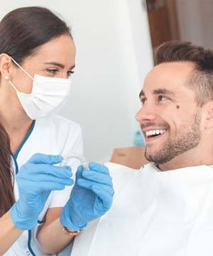
[[[31, 129], [21, 146], [13, 156], [13, 170], [16, 177], [18, 169], [28, 161], [35, 153], [54, 154], [70, 156], [72, 154], [83, 154], [82, 131], [79, 124], [71, 122], [60, 116], [52, 116], [45, 119], [33, 121]], [[73, 178], [75, 171], [80, 164], [79, 160], [72, 159], [69, 162], [72, 167]], [[36, 178], [36, 177], [35, 177]], [[38, 218], [38, 225], [33, 230], [26, 230], [16, 240], [4, 256], [45, 255], [36, 240], [38, 226], [45, 220], [45, 213], [48, 208], [63, 207], [70, 197], [72, 187], [67, 186], [63, 191], [53, 191], [45, 203], [43, 211]], [[14, 194], [18, 200], [18, 186], [14, 183]]]

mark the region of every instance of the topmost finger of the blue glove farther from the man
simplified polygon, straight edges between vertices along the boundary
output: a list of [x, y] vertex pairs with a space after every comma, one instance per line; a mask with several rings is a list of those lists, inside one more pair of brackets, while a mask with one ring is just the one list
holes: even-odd
[[32, 164], [59, 164], [62, 161], [62, 156], [47, 155], [47, 154], [34, 154], [28, 162]]

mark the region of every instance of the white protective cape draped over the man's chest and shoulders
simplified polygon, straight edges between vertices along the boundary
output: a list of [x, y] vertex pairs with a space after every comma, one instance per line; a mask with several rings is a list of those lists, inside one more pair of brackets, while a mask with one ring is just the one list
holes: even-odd
[[75, 238], [72, 256], [212, 256], [213, 169], [109, 163], [109, 212]]

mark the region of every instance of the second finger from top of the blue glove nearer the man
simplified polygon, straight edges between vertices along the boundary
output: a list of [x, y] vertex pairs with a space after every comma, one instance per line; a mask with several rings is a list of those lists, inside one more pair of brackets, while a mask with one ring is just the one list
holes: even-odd
[[97, 171], [82, 171], [82, 176], [90, 181], [112, 186], [111, 177], [108, 174], [99, 173]]

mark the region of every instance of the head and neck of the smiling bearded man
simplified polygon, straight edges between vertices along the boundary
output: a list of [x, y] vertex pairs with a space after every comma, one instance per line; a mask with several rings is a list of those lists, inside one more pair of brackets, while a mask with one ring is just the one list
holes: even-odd
[[146, 159], [162, 171], [212, 164], [212, 53], [189, 43], [166, 43], [155, 60], [136, 115], [146, 137]]

